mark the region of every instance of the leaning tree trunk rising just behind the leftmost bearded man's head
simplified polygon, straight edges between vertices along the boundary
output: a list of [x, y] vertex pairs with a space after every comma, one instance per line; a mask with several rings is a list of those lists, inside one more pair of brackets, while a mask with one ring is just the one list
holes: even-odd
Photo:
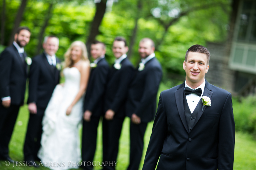
[[11, 45], [13, 40], [14, 40], [14, 35], [16, 33], [16, 30], [19, 27], [20, 22], [22, 21], [22, 16], [23, 16], [23, 12], [25, 10], [26, 4], [27, 4], [27, 0], [22, 0], [22, 3], [20, 4], [20, 7], [19, 7], [19, 11], [16, 15], [16, 19], [15, 19], [15, 22], [14, 22], [14, 26], [13, 26], [13, 29], [12, 29], [12, 34], [11, 34], [8, 45]]

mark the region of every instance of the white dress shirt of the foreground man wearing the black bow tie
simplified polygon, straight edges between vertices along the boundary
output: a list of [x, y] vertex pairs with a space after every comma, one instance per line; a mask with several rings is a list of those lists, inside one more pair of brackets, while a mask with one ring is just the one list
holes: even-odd
[[203, 83], [200, 86], [198, 86], [197, 88], [189, 87], [187, 85], [186, 81], [185, 81], [185, 88], [188, 87], [188, 88], [191, 88], [192, 90], [195, 90], [195, 89], [198, 89], [198, 88], [202, 89], [202, 94], [201, 94], [200, 97], [197, 96], [195, 93], [191, 93], [189, 95], [186, 95], [187, 104], [188, 104], [188, 107], [189, 107], [189, 110], [190, 110], [191, 113], [194, 112], [195, 108], [197, 107], [198, 102], [200, 101], [201, 97], [203, 96], [204, 86], [205, 86], [205, 79], [204, 79]]

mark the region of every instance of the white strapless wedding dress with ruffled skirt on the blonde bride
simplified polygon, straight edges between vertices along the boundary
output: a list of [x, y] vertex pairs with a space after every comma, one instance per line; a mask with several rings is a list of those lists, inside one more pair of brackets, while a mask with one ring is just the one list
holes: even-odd
[[55, 87], [45, 110], [38, 152], [42, 165], [53, 170], [78, 168], [77, 164], [81, 161], [79, 125], [83, 114], [83, 97], [73, 106], [71, 114], [66, 115], [67, 108], [79, 91], [81, 74], [76, 67], [65, 68], [63, 74], [65, 84]]

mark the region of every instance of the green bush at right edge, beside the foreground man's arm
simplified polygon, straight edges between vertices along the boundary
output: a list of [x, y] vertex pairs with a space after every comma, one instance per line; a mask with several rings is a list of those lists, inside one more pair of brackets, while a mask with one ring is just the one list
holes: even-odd
[[233, 99], [236, 130], [256, 135], [256, 96]]

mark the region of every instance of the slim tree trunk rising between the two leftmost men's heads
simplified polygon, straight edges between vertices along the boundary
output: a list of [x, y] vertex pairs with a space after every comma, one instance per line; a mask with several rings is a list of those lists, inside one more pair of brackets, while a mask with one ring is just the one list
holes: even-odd
[[43, 35], [44, 35], [44, 31], [48, 25], [49, 20], [52, 17], [52, 9], [53, 9], [53, 2], [51, 2], [51, 4], [48, 7], [48, 10], [46, 12], [46, 16], [44, 18], [44, 24], [41, 27], [40, 33], [39, 33], [39, 38], [38, 38], [38, 45], [37, 45], [37, 52], [36, 55], [38, 55], [41, 52], [42, 49], [42, 41], [43, 41]]

